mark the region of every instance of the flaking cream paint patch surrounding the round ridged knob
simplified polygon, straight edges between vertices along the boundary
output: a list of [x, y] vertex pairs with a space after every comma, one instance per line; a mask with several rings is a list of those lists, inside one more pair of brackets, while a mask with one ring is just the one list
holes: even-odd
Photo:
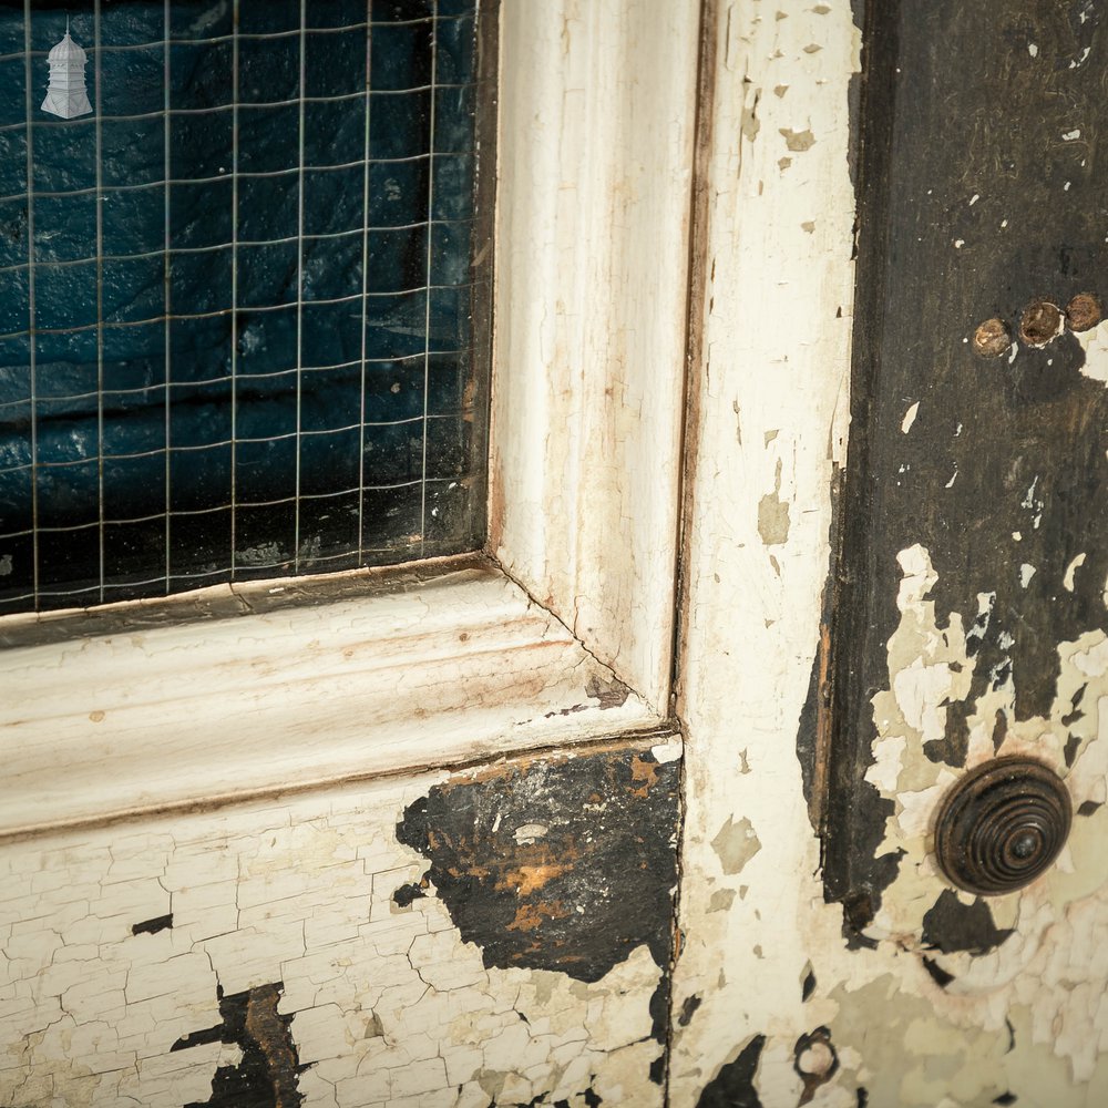
[[[868, 1050], [858, 1055], [859, 1070], [866, 1069], [871, 1089], [905, 1104], [957, 1089], [967, 1100], [956, 1102], [976, 1102], [998, 1095], [1002, 1084], [1044, 1104], [1051, 1102], [1051, 1087], [1054, 1096], [1070, 1088], [1075, 1099], [1066, 1102], [1083, 1104], [1083, 1096], [1108, 1089], [1108, 956], [1098, 953], [1108, 938], [1108, 635], [1089, 632], [1058, 645], [1057, 691], [1045, 715], [1018, 717], [1012, 667], [1003, 663], [991, 668], [985, 693], [967, 701], [981, 664], [972, 644], [985, 632], [991, 597], [982, 594], [975, 613], [953, 613], [940, 626], [927, 551], [909, 547], [899, 562], [901, 619], [889, 640], [889, 688], [872, 699], [879, 737], [866, 771], [891, 808], [878, 849], [899, 860], [864, 934], [915, 956], [937, 986], [922, 989], [925, 1016], [915, 1020], [919, 1042], [931, 1044], [927, 1054], [937, 1054], [944, 1039], [955, 1044], [955, 1029], [967, 1045], [933, 1058], [932, 1076], [921, 1070], [906, 1085], [891, 1083]], [[935, 812], [961, 770], [929, 757], [927, 743], [946, 733], [955, 708], [968, 736], [965, 769], [1008, 755], [1034, 757], [1065, 780], [1075, 809], [1086, 813], [1045, 874], [987, 900], [950, 888], [933, 855]], [[882, 986], [868, 987], [880, 994]], [[897, 986], [883, 987], [906, 1003]], [[856, 1003], [839, 995], [848, 1007]], [[855, 1044], [875, 1038], [861, 1025], [853, 1034]], [[1005, 1049], [1009, 1039], [1018, 1050]]]

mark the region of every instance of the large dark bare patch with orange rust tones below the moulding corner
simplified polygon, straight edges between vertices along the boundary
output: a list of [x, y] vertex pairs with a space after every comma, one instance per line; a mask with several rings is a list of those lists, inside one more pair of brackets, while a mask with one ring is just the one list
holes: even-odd
[[594, 982], [644, 943], [668, 972], [677, 819], [678, 763], [624, 746], [460, 774], [397, 837], [486, 966]]

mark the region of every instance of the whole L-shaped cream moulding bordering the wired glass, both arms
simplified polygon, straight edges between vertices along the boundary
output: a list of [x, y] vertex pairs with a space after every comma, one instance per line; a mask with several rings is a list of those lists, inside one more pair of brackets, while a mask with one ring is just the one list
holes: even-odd
[[501, 8], [492, 562], [3, 617], [0, 835], [669, 726], [698, 35]]

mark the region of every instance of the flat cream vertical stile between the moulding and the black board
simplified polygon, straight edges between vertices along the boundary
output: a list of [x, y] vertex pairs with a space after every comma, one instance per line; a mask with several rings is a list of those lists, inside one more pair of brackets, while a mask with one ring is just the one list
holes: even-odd
[[[885, 968], [850, 962], [823, 904], [797, 758], [845, 455], [860, 35], [845, 3], [709, 0], [705, 25], [670, 1102], [778, 1108], [858, 1065], [797, 1044]], [[814, 1102], [854, 1108], [852, 1086]]]

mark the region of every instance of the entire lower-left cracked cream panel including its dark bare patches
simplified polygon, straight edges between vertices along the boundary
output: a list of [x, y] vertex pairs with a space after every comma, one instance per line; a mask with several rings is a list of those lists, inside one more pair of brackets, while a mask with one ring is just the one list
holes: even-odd
[[660, 1105], [679, 750], [8, 844], [0, 1104]]

